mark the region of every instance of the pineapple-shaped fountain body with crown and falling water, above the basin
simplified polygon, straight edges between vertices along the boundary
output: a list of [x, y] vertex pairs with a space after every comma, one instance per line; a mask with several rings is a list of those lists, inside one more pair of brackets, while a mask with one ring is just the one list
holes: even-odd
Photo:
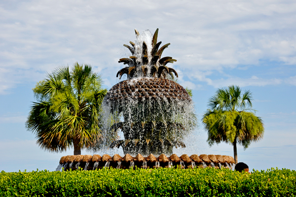
[[[163, 50], [157, 42], [158, 29], [152, 35], [148, 30], [142, 35], [135, 30], [137, 39], [126, 46], [132, 53], [119, 60], [128, 66], [127, 80], [114, 85], [103, 101], [105, 145], [120, 146], [124, 154], [170, 155], [173, 146], [185, 147], [182, 142], [197, 125], [193, 102], [186, 90], [173, 79], [177, 72], [167, 67], [176, 62], [172, 57], [161, 58]], [[160, 47], [160, 48], [159, 48]], [[124, 121], [116, 122], [121, 117]], [[121, 129], [124, 140], [114, 141]], [[111, 143], [112, 142], [112, 143]]]

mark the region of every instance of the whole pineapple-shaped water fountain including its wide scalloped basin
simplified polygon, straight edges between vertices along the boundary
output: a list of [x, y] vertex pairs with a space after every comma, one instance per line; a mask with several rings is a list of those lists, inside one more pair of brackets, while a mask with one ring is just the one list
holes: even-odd
[[[126, 75], [126, 80], [114, 85], [103, 101], [104, 139], [110, 148], [122, 147], [125, 156], [65, 156], [60, 160], [60, 168], [89, 170], [178, 164], [183, 168], [233, 167], [234, 159], [230, 156], [183, 155], [179, 158], [173, 154], [173, 147], [185, 147], [184, 137], [197, 125], [193, 102], [185, 88], [174, 81], [178, 78], [177, 72], [168, 67], [168, 63], [177, 60], [161, 57], [170, 43], [160, 47], [158, 29], [154, 35], [148, 30], [142, 35], [137, 30], [135, 33], [135, 42], [130, 41], [130, 46], [124, 44], [131, 56], [119, 59], [119, 63], [127, 66], [119, 70], [116, 77], [121, 79]], [[118, 115], [122, 115], [123, 121], [112, 123]], [[123, 132], [124, 139], [114, 141], [118, 129]]]

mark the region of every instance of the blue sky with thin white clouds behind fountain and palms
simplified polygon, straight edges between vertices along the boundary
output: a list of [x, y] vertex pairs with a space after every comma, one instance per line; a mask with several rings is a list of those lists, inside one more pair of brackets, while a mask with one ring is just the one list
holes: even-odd
[[[249, 168], [296, 170], [296, 1], [294, 0], [1, 0], [0, 171], [50, 170], [73, 149], [51, 153], [25, 127], [32, 88], [56, 68], [89, 64], [110, 89], [130, 56], [123, 44], [159, 28], [171, 43], [164, 56], [179, 83], [192, 89], [198, 128], [182, 154], [233, 156], [230, 144], [210, 147], [201, 118], [218, 88], [239, 85], [253, 93], [264, 122], [263, 139], [238, 161]], [[82, 154], [115, 154], [122, 150]]]

